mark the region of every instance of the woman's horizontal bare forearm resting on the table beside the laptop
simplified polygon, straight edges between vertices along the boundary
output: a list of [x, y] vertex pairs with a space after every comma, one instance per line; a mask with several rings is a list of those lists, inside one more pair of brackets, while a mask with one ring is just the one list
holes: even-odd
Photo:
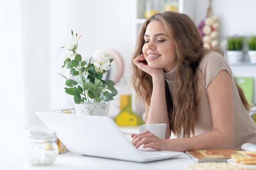
[[189, 138], [165, 139], [164, 150], [184, 152], [185, 150], [206, 150], [231, 148], [234, 135], [228, 131], [213, 130]]

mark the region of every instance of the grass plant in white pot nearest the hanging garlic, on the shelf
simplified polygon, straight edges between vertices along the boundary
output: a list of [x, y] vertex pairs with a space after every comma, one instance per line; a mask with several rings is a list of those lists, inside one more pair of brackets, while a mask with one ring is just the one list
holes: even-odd
[[238, 63], [243, 60], [244, 37], [232, 36], [227, 38], [227, 57], [229, 63]]

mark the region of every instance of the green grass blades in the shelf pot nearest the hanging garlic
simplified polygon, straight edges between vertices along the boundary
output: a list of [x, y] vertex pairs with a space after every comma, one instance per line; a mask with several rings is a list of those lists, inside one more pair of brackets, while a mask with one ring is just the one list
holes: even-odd
[[228, 37], [227, 44], [229, 51], [241, 51], [244, 46], [244, 37]]

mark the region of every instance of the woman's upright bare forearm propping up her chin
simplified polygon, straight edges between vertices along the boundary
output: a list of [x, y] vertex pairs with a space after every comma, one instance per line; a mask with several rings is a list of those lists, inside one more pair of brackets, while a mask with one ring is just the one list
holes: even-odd
[[[156, 77], [156, 78], [155, 78]], [[153, 92], [151, 96], [150, 109], [147, 124], [166, 123], [166, 138], [170, 138], [171, 131], [165, 97], [165, 77], [163, 73], [153, 77]]]

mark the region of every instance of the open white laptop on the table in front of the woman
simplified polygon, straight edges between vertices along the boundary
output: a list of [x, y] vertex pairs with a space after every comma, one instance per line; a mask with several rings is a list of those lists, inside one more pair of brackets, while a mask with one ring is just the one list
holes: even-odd
[[36, 112], [36, 115], [71, 151], [81, 155], [149, 162], [169, 159], [184, 152], [136, 149], [117, 124], [106, 116], [78, 116]]

